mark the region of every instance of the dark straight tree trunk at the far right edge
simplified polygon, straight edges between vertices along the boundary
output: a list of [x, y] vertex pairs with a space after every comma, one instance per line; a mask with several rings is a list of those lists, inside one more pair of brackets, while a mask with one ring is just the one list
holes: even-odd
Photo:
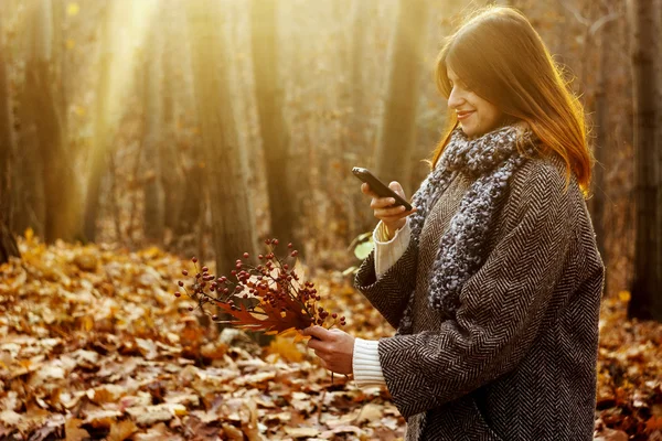
[[659, 295], [661, 208], [659, 202], [660, 172], [658, 155], [659, 130], [656, 127], [659, 88], [655, 58], [661, 54], [656, 31], [654, 3], [633, 0], [632, 10], [632, 77], [634, 89], [634, 203], [636, 251], [632, 299], [628, 314], [641, 320], [662, 321], [662, 297]]

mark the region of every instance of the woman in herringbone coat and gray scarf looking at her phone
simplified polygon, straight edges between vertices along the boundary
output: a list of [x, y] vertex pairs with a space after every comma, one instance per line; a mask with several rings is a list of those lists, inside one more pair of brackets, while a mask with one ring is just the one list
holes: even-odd
[[590, 440], [605, 268], [581, 105], [510, 8], [468, 20], [436, 76], [450, 126], [415, 208], [362, 185], [380, 224], [355, 286], [397, 332], [316, 326], [308, 346], [385, 385], [407, 440]]

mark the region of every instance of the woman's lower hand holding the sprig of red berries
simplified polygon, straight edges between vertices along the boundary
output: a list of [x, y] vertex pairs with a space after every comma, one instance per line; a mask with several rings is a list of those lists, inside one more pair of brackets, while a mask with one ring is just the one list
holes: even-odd
[[307, 327], [301, 334], [311, 336], [308, 347], [321, 358], [324, 368], [337, 374], [352, 374], [353, 336], [341, 330], [327, 330], [322, 326]]

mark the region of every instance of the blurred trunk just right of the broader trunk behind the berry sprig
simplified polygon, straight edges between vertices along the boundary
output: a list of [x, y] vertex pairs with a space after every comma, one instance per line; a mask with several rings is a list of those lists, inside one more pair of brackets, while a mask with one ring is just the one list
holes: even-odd
[[295, 211], [293, 176], [289, 166], [290, 133], [282, 115], [284, 83], [278, 75], [276, 3], [276, 0], [253, 0], [250, 3], [255, 94], [266, 161], [271, 234], [285, 243], [293, 243], [302, 252], [299, 238], [295, 237], [299, 216]]

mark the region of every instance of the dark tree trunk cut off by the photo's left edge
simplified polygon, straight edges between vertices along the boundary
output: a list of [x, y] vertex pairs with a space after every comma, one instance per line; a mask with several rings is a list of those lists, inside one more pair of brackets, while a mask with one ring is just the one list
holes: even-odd
[[11, 96], [7, 83], [7, 62], [4, 60], [4, 30], [0, 10], [0, 263], [10, 257], [21, 257], [17, 240], [9, 227], [12, 212], [11, 170], [13, 163], [14, 139], [11, 117]]

